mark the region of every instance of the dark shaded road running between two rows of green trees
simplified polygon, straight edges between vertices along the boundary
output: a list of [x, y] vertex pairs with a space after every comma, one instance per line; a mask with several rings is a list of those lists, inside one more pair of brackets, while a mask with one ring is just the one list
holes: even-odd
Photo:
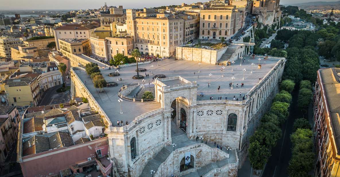
[[287, 177], [288, 164], [292, 155], [292, 143], [290, 134], [292, 134], [293, 123], [296, 118], [303, 117], [301, 111], [296, 108], [297, 95], [299, 90], [295, 89], [292, 93], [292, 105], [286, 124], [282, 127], [282, 137], [277, 141], [276, 146], [272, 149], [272, 156], [268, 159], [267, 165], [261, 177]]

